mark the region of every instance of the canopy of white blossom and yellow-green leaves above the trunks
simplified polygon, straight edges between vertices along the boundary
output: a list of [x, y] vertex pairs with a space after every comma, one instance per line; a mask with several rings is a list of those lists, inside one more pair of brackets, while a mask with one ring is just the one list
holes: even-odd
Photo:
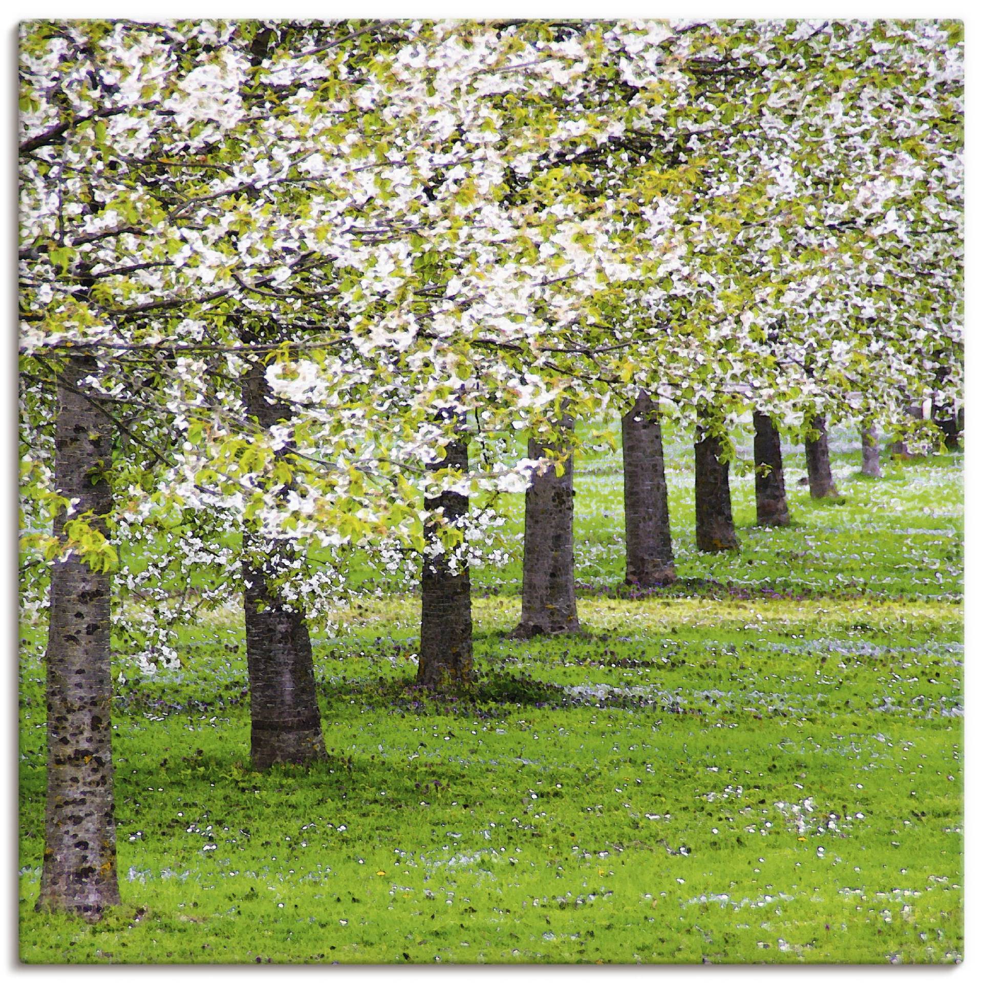
[[[961, 52], [937, 21], [26, 22], [25, 603], [73, 549], [163, 630], [167, 576], [236, 589], [245, 522], [303, 548], [281, 576], [316, 611], [325, 551], [421, 549], [437, 487], [478, 495], [446, 545], [493, 559], [538, 466], [495, 435], [639, 389], [722, 430], [957, 402]], [[52, 486], [82, 356], [105, 535]], [[477, 467], [427, 467], [462, 426]]]

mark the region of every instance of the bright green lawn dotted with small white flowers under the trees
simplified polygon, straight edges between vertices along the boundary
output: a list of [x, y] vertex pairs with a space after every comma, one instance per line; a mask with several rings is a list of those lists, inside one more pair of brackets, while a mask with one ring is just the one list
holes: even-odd
[[519, 568], [479, 572], [481, 679], [454, 699], [409, 685], [418, 599], [339, 610], [315, 641], [330, 760], [310, 773], [249, 770], [238, 611], [186, 631], [178, 670], [116, 665], [123, 905], [97, 926], [32, 909], [44, 626], [24, 625], [22, 959], [960, 958], [961, 459], [869, 482], [839, 439], [837, 506], [808, 501], [789, 453], [795, 526], [747, 528], [737, 478], [742, 552], [704, 557], [689, 453], [668, 448], [682, 586], [613, 596], [620, 473], [588, 456], [585, 633], [510, 639]]

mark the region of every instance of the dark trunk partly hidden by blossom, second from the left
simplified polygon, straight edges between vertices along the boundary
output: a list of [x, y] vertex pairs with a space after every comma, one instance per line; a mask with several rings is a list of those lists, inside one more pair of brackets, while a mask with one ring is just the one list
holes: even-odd
[[[244, 335], [247, 339], [252, 340]], [[261, 363], [243, 376], [242, 386], [246, 410], [260, 427], [268, 430], [290, 416], [283, 403], [270, 401]], [[253, 768], [259, 772], [275, 764], [305, 765], [324, 757], [311, 636], [303, 610], [288, 609], [271, 584], [290, 563], [292, 551], [289, 544], [250, 531], [243, 535], [243, 546], [264, 556], [261, 565], [244, 571]]]

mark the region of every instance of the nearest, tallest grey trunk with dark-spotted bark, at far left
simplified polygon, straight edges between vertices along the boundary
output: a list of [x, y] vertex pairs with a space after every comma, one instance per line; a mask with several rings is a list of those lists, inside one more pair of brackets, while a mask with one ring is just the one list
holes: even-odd
[[[105, 534], [112, 422], [80, 392], [91, 358], [69, 358], [58, 382], [55, 488]], [[66, 516], [54, 520], [65, 541]], [[97, 921], [120, 903], [113, 818], [111, 578], [69, 554], [51, 568], [48, 617], [47, 798], [39, 911]]]

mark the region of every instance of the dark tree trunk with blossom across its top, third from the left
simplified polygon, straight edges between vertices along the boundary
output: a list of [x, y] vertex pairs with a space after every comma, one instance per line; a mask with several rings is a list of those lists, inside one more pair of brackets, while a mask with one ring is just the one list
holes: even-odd
[[[442, 461], [428, 465], [431, 471], [453, 468], [467, 474], [468, 444], [455, 440], [447, 444]], [[429, 513], [440, 511], [446, 522], [459, 526], [468, 513], [468, 496], [440, 492], [428, 498]], [[424, 568], [421, 582], [423, 608], [420, 619], [420, 664], [417, 682], [441, 688], [473, 679], [471, 645], [471, 575], [467, 560], [456, 560], [439, 547], [437, 524], [428, 519], [424, 526]]]

